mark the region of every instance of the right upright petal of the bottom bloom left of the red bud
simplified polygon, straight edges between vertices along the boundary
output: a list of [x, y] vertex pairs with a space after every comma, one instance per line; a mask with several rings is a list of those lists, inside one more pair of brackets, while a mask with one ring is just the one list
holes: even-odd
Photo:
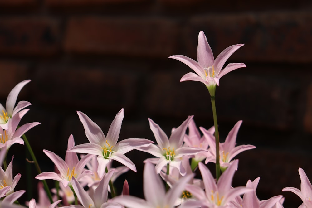
[[107, 202], [107, 187], [108, 183], [110, 181], [110, 178], [112, 177], [114, 173], [114, 170], [110, 170], [107, 172], [104, 177], [101, 179], [99, 185], [95, 188], [93, 199], [95, 203], [95, 207], [101, 207], [101, 205], [105, 202]]

